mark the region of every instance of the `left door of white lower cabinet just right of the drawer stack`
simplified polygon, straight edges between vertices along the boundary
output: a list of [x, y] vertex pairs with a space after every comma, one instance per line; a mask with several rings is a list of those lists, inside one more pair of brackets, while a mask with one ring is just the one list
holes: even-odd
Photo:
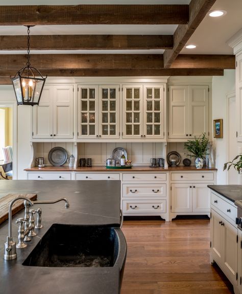
[[172, 184], [172, 212], [191, 212], [191, 196], [189, 184]]

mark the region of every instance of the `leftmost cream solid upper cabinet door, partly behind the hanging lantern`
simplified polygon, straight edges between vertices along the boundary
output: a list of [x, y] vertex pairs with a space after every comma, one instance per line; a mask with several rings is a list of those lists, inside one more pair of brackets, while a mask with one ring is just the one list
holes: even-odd
[[44, 86], [40, 103], [33, 107], [33, 138], [50, 139], [53, 138], [53, 88]]

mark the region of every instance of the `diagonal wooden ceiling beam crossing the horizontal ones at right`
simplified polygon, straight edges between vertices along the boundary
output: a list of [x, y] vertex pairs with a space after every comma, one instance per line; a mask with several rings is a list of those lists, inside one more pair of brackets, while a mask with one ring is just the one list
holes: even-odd
[[195, 32], [203, 18], [216, 0], [191, 0], [189, 4], [189, 22], [187, 25], [179, 25], [174, 33], [174, 47], [164, 52], [164, 67], [168, 68], [177, 58], [185, 44]]

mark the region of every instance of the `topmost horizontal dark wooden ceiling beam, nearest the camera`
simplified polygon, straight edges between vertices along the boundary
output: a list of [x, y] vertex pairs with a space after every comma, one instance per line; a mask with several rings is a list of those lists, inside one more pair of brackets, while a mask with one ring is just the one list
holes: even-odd
[[0, 6], [1, 26], [179, 25], [188, 20], [188, 5]]

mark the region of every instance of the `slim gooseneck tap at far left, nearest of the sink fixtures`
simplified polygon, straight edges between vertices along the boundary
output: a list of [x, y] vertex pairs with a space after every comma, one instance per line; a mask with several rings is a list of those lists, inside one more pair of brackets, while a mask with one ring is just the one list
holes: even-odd
[[5, 254], [4, 254], [5, 260], [12, 260], [17, 258], [16, 242], [13, 241], [13, 237], [12, 237], [12, 206], [13, 206], [13, 203], [19, 199], [26, 200], [26, 202], [28, 202], [28, 204], [31, 206], [34, 205], [34, 203], [29, 198], [24, 196], [19, 196], [10, 202], [9, 210], [8, 210], [8, 218], [9, 218], [8, 236], [7, 236], [7, 242], [5, 243]]

